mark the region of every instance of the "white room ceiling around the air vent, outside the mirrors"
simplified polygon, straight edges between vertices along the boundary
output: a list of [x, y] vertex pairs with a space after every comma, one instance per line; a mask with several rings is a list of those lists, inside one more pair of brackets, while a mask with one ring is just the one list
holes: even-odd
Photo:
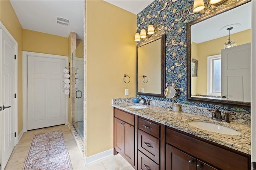
[[[154, 0], [105, 0], [124, 10], [138, 14]], [[23, 29], [84, 39], [83, 0], [10, 0]], [[60, 25], [57, 17], [70, 20], [70, 25]]]

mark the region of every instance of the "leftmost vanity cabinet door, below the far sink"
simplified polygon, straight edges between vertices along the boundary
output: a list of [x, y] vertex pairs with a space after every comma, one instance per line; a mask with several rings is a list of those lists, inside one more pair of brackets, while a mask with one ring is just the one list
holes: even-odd
[[114, 118], [114, 148], [121, 153], [124, 150], [124, 125], [123, 121]]

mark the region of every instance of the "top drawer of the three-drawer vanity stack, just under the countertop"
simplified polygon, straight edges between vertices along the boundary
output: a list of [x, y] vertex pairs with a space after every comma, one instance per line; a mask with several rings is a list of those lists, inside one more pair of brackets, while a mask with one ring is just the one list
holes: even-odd
[[153, 135], [154, 137], [160, 138], [160, 125], [153, 123], [152, 121], [147, 121], [145, 119], [139, 118], [139, 129]]

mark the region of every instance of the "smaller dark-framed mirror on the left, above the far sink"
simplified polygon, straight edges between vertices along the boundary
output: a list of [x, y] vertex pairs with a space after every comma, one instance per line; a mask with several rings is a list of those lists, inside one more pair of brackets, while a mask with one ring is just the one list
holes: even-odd
[[137, 94], [164, 97], [165, 34], [136, 47]]

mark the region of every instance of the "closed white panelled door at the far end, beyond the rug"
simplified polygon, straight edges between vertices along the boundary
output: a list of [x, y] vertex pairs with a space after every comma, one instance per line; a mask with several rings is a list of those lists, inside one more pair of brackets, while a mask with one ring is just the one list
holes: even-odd
[[28, 130], [65, 124], [65, 59], [28, 55]]

